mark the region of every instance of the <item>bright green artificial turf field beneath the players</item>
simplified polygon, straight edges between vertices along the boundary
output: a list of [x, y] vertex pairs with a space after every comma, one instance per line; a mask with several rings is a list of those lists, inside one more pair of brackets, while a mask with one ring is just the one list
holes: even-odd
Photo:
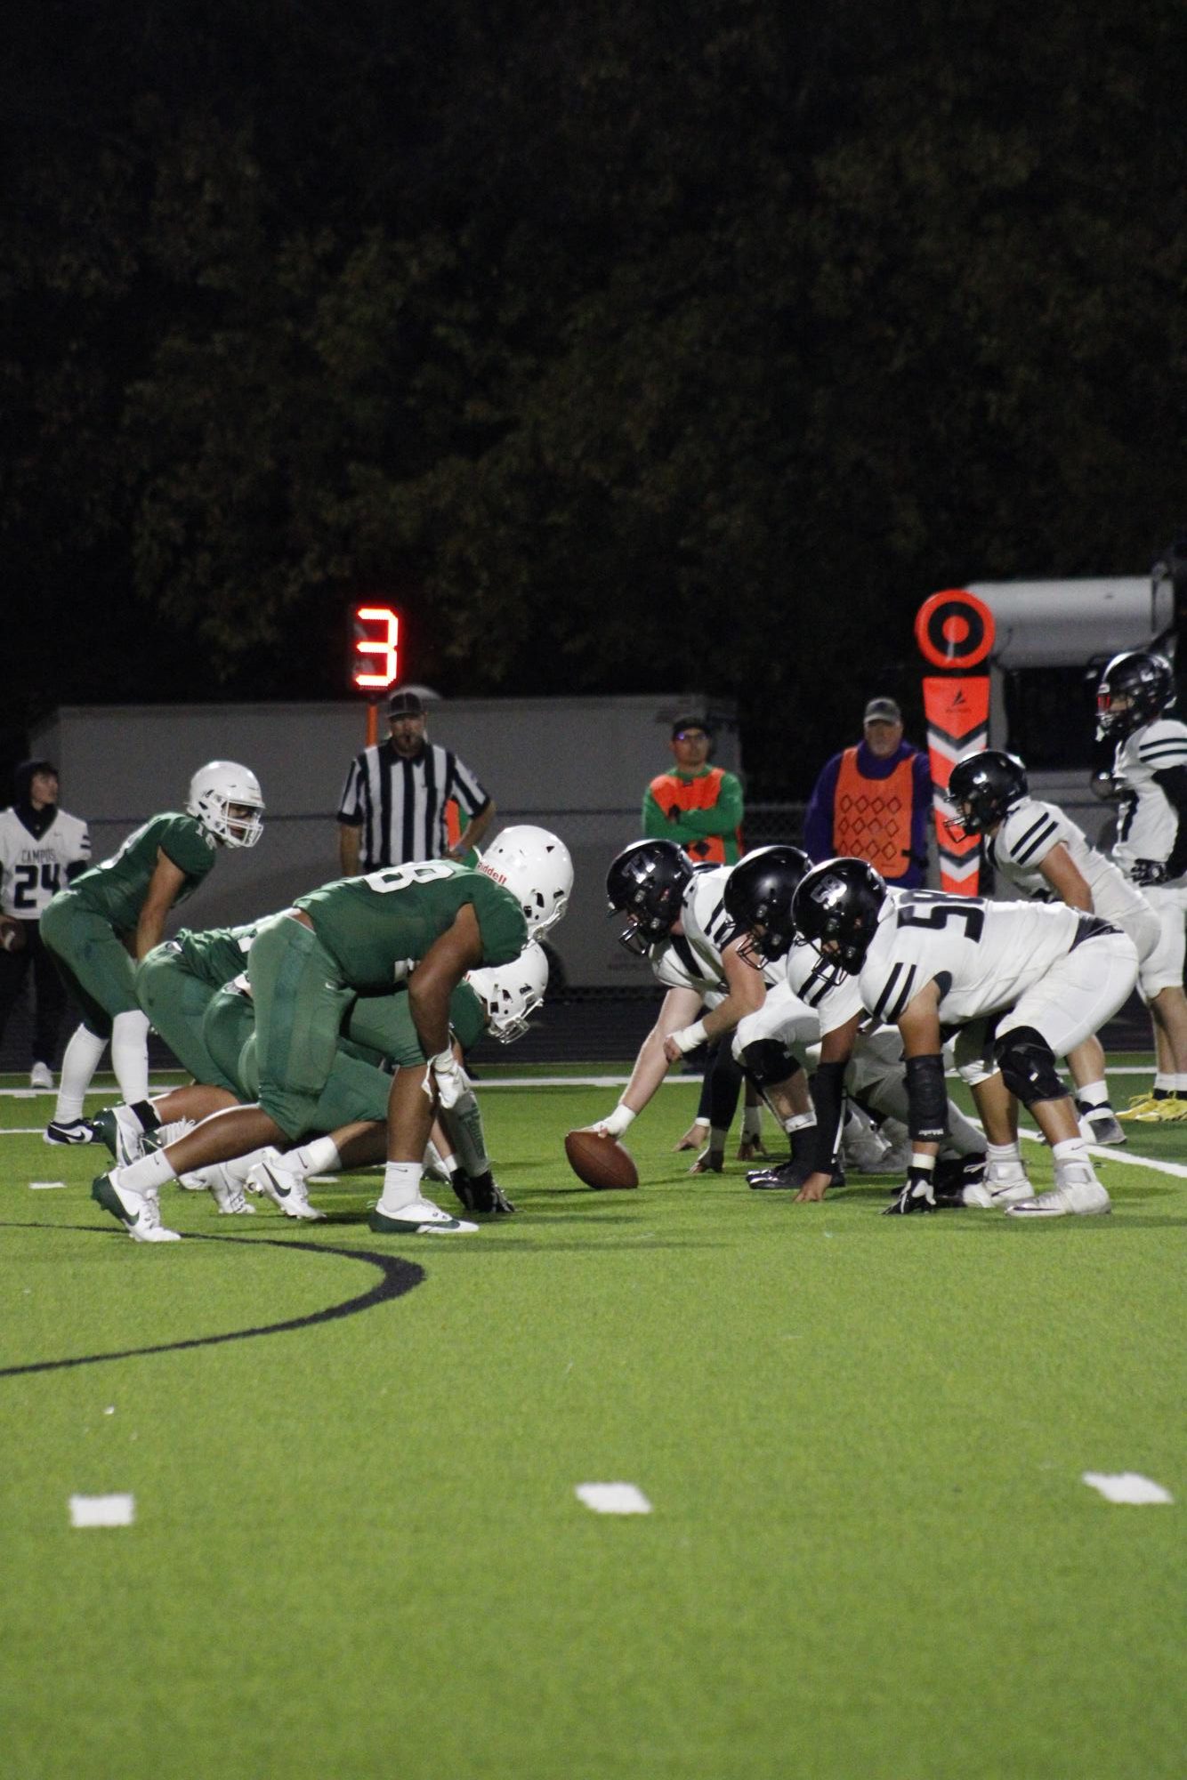
[[395, 1246], [377, 1175], [133, 1244], [0, 1096], [4, 1780], [1182, 1775], [1187, 1127], [1110, 1218], [892, 1221], [689, 1178], [689, 1080], [589, 1193], [616, 1091], [505, 1075], [518, 1214]]

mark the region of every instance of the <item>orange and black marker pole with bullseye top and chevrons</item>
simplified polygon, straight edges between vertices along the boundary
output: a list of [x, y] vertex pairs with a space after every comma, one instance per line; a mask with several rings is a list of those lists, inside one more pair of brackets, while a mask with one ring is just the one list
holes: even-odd
[[993, 612], [965, 587], [933, 593], [915, 614], [915, 641], [929, 668], [924, 675], [924, 716], [933, 781], [933, 819], [940, 853], [940, 886], [977, 894], [981, 838], [954, 837], [947, 826], [952, 767], [989, 740], [989, 675], [972, 673], [993, 648]]

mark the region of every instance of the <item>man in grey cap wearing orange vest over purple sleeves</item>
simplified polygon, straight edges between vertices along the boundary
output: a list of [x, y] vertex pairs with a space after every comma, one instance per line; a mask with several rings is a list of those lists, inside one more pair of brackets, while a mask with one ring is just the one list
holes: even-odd
[[804, 847], [813, 860], [868, 860], [886, 883], [916, 890], [927, 883], [927, 755], [902, 740], [893, 698], [865, 707], [865, 739], [833, 755], [813, 785], [804, 815]]

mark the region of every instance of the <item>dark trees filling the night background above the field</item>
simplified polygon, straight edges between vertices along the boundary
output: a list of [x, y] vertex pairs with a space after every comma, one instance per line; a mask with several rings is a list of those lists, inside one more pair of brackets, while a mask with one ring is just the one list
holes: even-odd
[[[7, 733], [735, 696], [760, 792], [968, 578], [1185, 516], [1176, 0], [107, 0], [0, 69]], [[16, 746], [16, 744], [12, 744]]]

